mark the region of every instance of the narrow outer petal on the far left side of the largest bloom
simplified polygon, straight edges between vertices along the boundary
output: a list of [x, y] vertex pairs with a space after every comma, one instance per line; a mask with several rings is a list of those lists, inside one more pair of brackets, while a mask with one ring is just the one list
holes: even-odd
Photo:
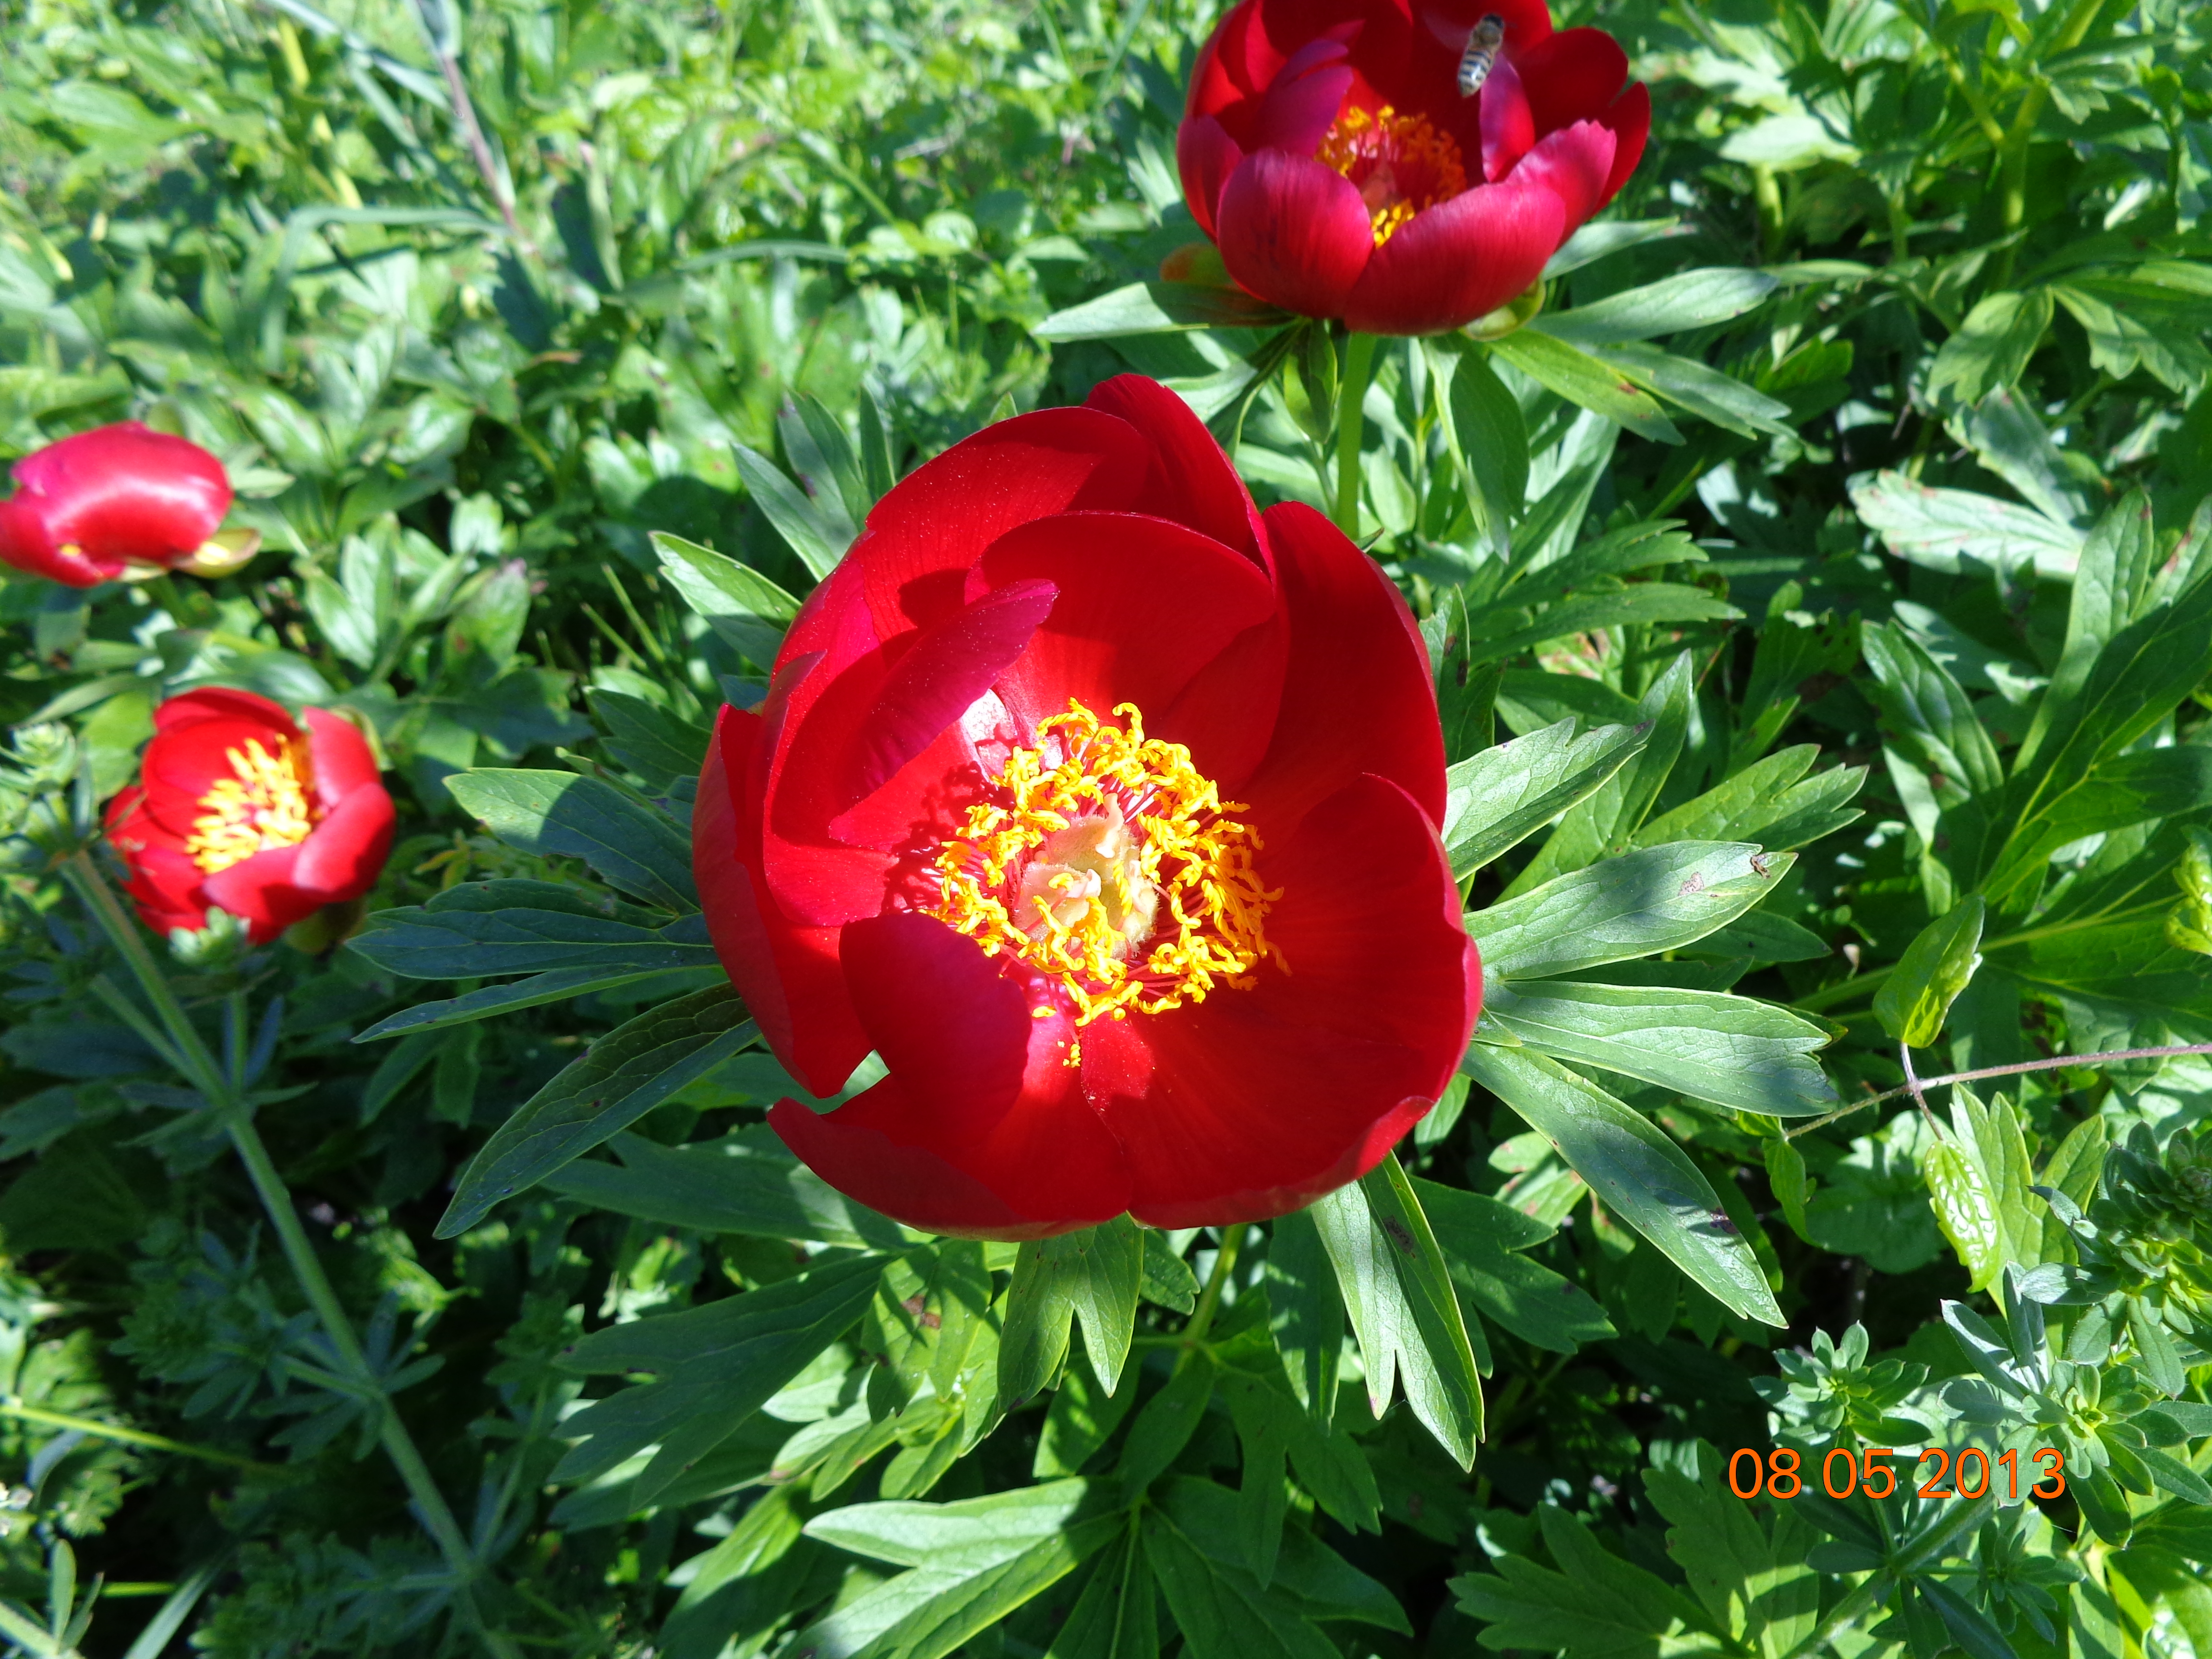
[[761, 810], [743, 794], [761, 737], [759, 714], [721, 710], [692, 805], [692, 874], [714, 953], [768, 1046], [810, 1091], [834, 1095], [869, 1040], [845, 995], [838, 929], [792, 927], [761, 887]]

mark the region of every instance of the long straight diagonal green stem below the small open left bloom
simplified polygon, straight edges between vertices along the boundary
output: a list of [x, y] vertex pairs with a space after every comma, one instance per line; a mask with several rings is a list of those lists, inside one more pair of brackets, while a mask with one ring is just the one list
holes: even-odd
[[221, 1119], [223, 1130], [230, 1135], [230, 1144], [239, 1152], [239, 1161], [246, 1166], [248, 1179], [254, 1183], [254, 1192], [261, 1197], [261, 1208], [268, 1212], [270, 1225], [276, 1228], [276, 1241], [283, 1245], [285, 1261], [292, 1267], [292, 1276], [299, 1281], [301, 1294], [314, 1310], [323, 1325], [323, 1334], [330, 1338], [332, 1352], [338, 1356], [338, 1369], [345, 1380], [358, 1391], [361, 1398], [369, 1400], [369, 1409], [378, 1418], [378, 1440], [383, 1440], [385, 1455], [398, 1469], [400, 1482], [407, 1486], [407, 1495], [414, 1500], [416, 1517], [422, 1528], [438, 1544], [438, 1553], [445, 1557], [447, 1568], [453, 1573], [453, 1595], [462, 1621], [482, 1639], [484, 1648], [498, 1659], [520, 1659], [520, 1648], [511, 1637], [487, 1630], [482, 1613], [476, 1606], [476, 1593], [471, 1582], [478, 1575], [476, 1555], [469, 1551], [467, 1533], [460, 1531], [460, 1522], [453, 1520], [453, 1509], [445, 1502], [445, 1493], [438, 1491], [438, 1482], [429, 1473], [429, 1464], [422, 1462], [422, 1453], [416, 1449], [414, 1438], [407, 1433], [407, 1425], [400, 1422], [400, 1413], [392, 1405], [392, 1396], [385, 1394], [383, 1380], [369, 1365], [367, 1354], [361, 1352], [361, 1338], [354, 1334], [354, 1323], [345, 1316], [345, 1305], [338, 1301], [338, 1292], [330, 1283], [330, 1274], [323, 1272], [323, 1263], [314, 1254], [314, 1243], [307, 1239], [307, 1230], [299, 1223], [299, 1208], [292, 1203], [292, 1190], [285, 1186], [283, 1175], [279, 1175], [268, 1146], [261, 1139], [261, 1130], [254, 1128], [252, 1110], [246, 1102], [243, 1079], [232, 1077], [230, 1071], [217, 1064], [208, 1044], [201, 1040], [199, 1029], [192, 1018], [177, 1002], [177, 993], [155, 962], [153, 951], [146, 949], [146, 940], [139, 938], [137, 927], [124, 911], [122, 902], [115, 898], [115, 889], [108, 887], [106, 876], [100, 874], [100, 865], [93, 863], [88, 849], [77, 849], [62, 865], [62, 874], [69, 885], [77, 889], [84, 898], [86, 909], [100, 922], [108, 940], [122, 953], [124, 962], [131, 964], [131, 973], [137, 978], [139, 989], [153, 1004], [155, 1015], [168, 1031], [175, 1057], [181, 1062], [186, 1082], [190, 1082], [206, 1099], [210, 1110]]

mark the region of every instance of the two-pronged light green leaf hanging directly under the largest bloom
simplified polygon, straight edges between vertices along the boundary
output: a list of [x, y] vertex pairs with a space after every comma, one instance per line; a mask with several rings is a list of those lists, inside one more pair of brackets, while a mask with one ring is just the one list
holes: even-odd
[[1068, 1352], [1068, 1321], [1082, 1321], [1091, 1369], [1113, 1394], [1137, 1321], [1144, 1234], [1126, 1214], [1055, 1239], [1031, 1239], [1013, 1267], [998, 1387], [1009, 1405], [1042, 1394]]

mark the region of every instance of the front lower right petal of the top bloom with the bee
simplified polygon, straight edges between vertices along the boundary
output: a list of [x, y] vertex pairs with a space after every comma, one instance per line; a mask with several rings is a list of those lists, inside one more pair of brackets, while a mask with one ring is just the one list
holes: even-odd
[[1544, 272], [1559, 248], [1562, 223], [1559, 197], [1524, 188], [1517, 177], [1478, 184], [1425, 208], [1376, 248], [1345, 301], [1345, 325], [1360, 334], [1464, 327]]

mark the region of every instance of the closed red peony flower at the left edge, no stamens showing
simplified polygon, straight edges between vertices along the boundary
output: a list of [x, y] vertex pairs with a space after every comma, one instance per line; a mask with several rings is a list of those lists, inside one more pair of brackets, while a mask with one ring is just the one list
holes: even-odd
[[0, 562], [73, 588], [184, 566], [221, 575], [252, 546], [210, 544], [230, 511], [223, 462], [137, 420], [80, 431], [15, 462]]

